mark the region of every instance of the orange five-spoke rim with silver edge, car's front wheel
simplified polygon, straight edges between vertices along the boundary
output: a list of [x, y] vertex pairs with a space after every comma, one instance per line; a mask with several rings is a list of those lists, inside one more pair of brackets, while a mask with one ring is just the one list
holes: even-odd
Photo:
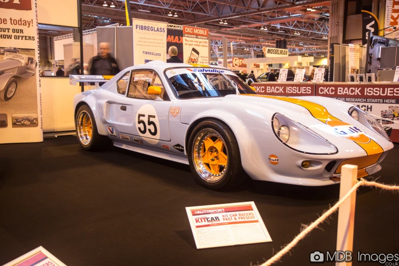
[[211, 128], [202, 129], [195, 139], [193, 161], [197, 173], [207, 182], [219, 181], [227, 169], [227, 146]]

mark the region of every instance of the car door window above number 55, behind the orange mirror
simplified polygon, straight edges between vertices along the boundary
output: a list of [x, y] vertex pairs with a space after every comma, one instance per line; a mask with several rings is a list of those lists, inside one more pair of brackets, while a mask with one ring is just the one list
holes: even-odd
[[152, 70], [139, 70], [131, 72], [131, 79], [129, 85], [129, 92], [127, 97], [138, 99], [156, 99], [155, 95], [148, 95], [147, 90], [150, 86], [161, 87], [160, 98], [169, 100], [165, 88], [159, 78], [158, 74]]

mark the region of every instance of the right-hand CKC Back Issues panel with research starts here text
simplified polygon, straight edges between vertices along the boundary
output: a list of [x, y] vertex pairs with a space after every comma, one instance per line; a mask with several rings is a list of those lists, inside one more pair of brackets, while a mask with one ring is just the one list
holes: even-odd
[[317, 84], [315, 95], [357, 105], [382, 124], [393, 142], [399, 142], [399, 83]]

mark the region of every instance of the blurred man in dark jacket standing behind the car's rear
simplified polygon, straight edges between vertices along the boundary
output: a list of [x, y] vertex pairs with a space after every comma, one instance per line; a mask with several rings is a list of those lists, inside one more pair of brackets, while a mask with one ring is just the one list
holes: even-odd
[[101, 42], [98, 44], [98, 55], [89, 61], [90, 75], [116, 75], [119, 73], [115, 58], [110, 55], [110, 44]]

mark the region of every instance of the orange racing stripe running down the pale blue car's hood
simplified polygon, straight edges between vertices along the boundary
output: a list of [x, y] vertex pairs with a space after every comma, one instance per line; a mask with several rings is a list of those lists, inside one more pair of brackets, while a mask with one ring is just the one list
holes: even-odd
[[[306, 100], [301, 100], [301, 99], [296, 99], [296, 98], [289, 98], [289, 97], [280, 97], [280, 96], [270, 96], [270, 95], [256, 95], [256, 94], [241, 94], [244, 96], [255, 96], [255, 97], [263, 97], [263, 98], [271, 98], [271, 99], [276, 99], [276, 100], [282, 100], [282, 101], [286, 101], [286, 102], [290, 102], [290, 103], [294, 103], [297, 105], [300, 105], [301, 107], [307, 109], [310, 114], [316, 118], [317, 120], [329, 125], [329, 123], [327, 123], [328, 121], [335, 120], [335, 121], [339, 121], [341, 125], [349, 125], [341, 120], [339, 120], [338, 118], [332, 116], [325, 107], [323, 107], [320, 104], [317, 103], [313, 103], [310, 101], [306, 101]], [[334, 122], [335, 122], [334, 121]], [[331, 127], [334, 127], [336, 123], [331, 123]], [[373, 154], [377, 154], [377, 153], [381, 153], [384, 152], [384, 150], [381, 148], [380, 145], [378, 145], [377, 142], [375, 142], [374, 140], [371, 140], [367, 135], [361, 134], [357, 136], [358, 138], [354, 138], [354, 137], [348, 137], [347, 139], [352, 140], [353, 142], [355, 142], [356, 144], [358, 144], [360, 147], [362, 147], [364, 149], [364, 151], [367, 153], [367, 155], [373, 155]], [[365, 142], [364, 141], [364, 137], [367, 137], [368, 140]]]

